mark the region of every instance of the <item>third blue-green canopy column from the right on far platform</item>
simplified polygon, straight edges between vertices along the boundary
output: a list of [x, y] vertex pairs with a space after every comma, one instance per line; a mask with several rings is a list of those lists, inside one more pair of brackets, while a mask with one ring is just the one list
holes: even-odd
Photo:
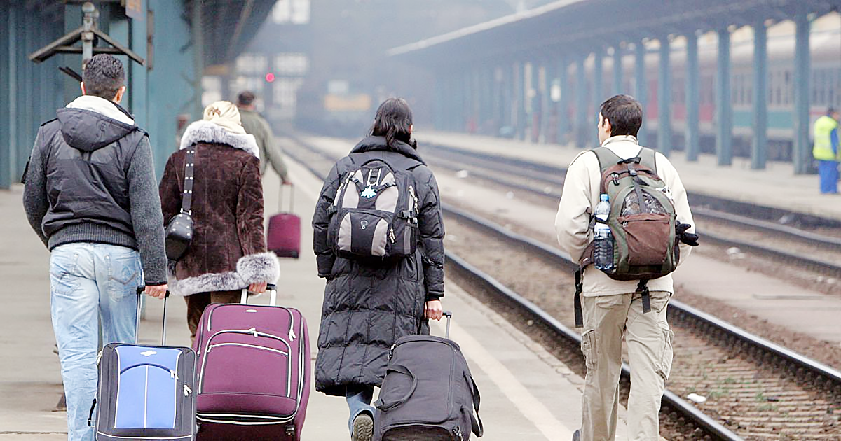
[[730, 32], [718, 31], [716, 74], [716, 155], [718, 165], [733, 163], [733, 104], [730, 102]]

